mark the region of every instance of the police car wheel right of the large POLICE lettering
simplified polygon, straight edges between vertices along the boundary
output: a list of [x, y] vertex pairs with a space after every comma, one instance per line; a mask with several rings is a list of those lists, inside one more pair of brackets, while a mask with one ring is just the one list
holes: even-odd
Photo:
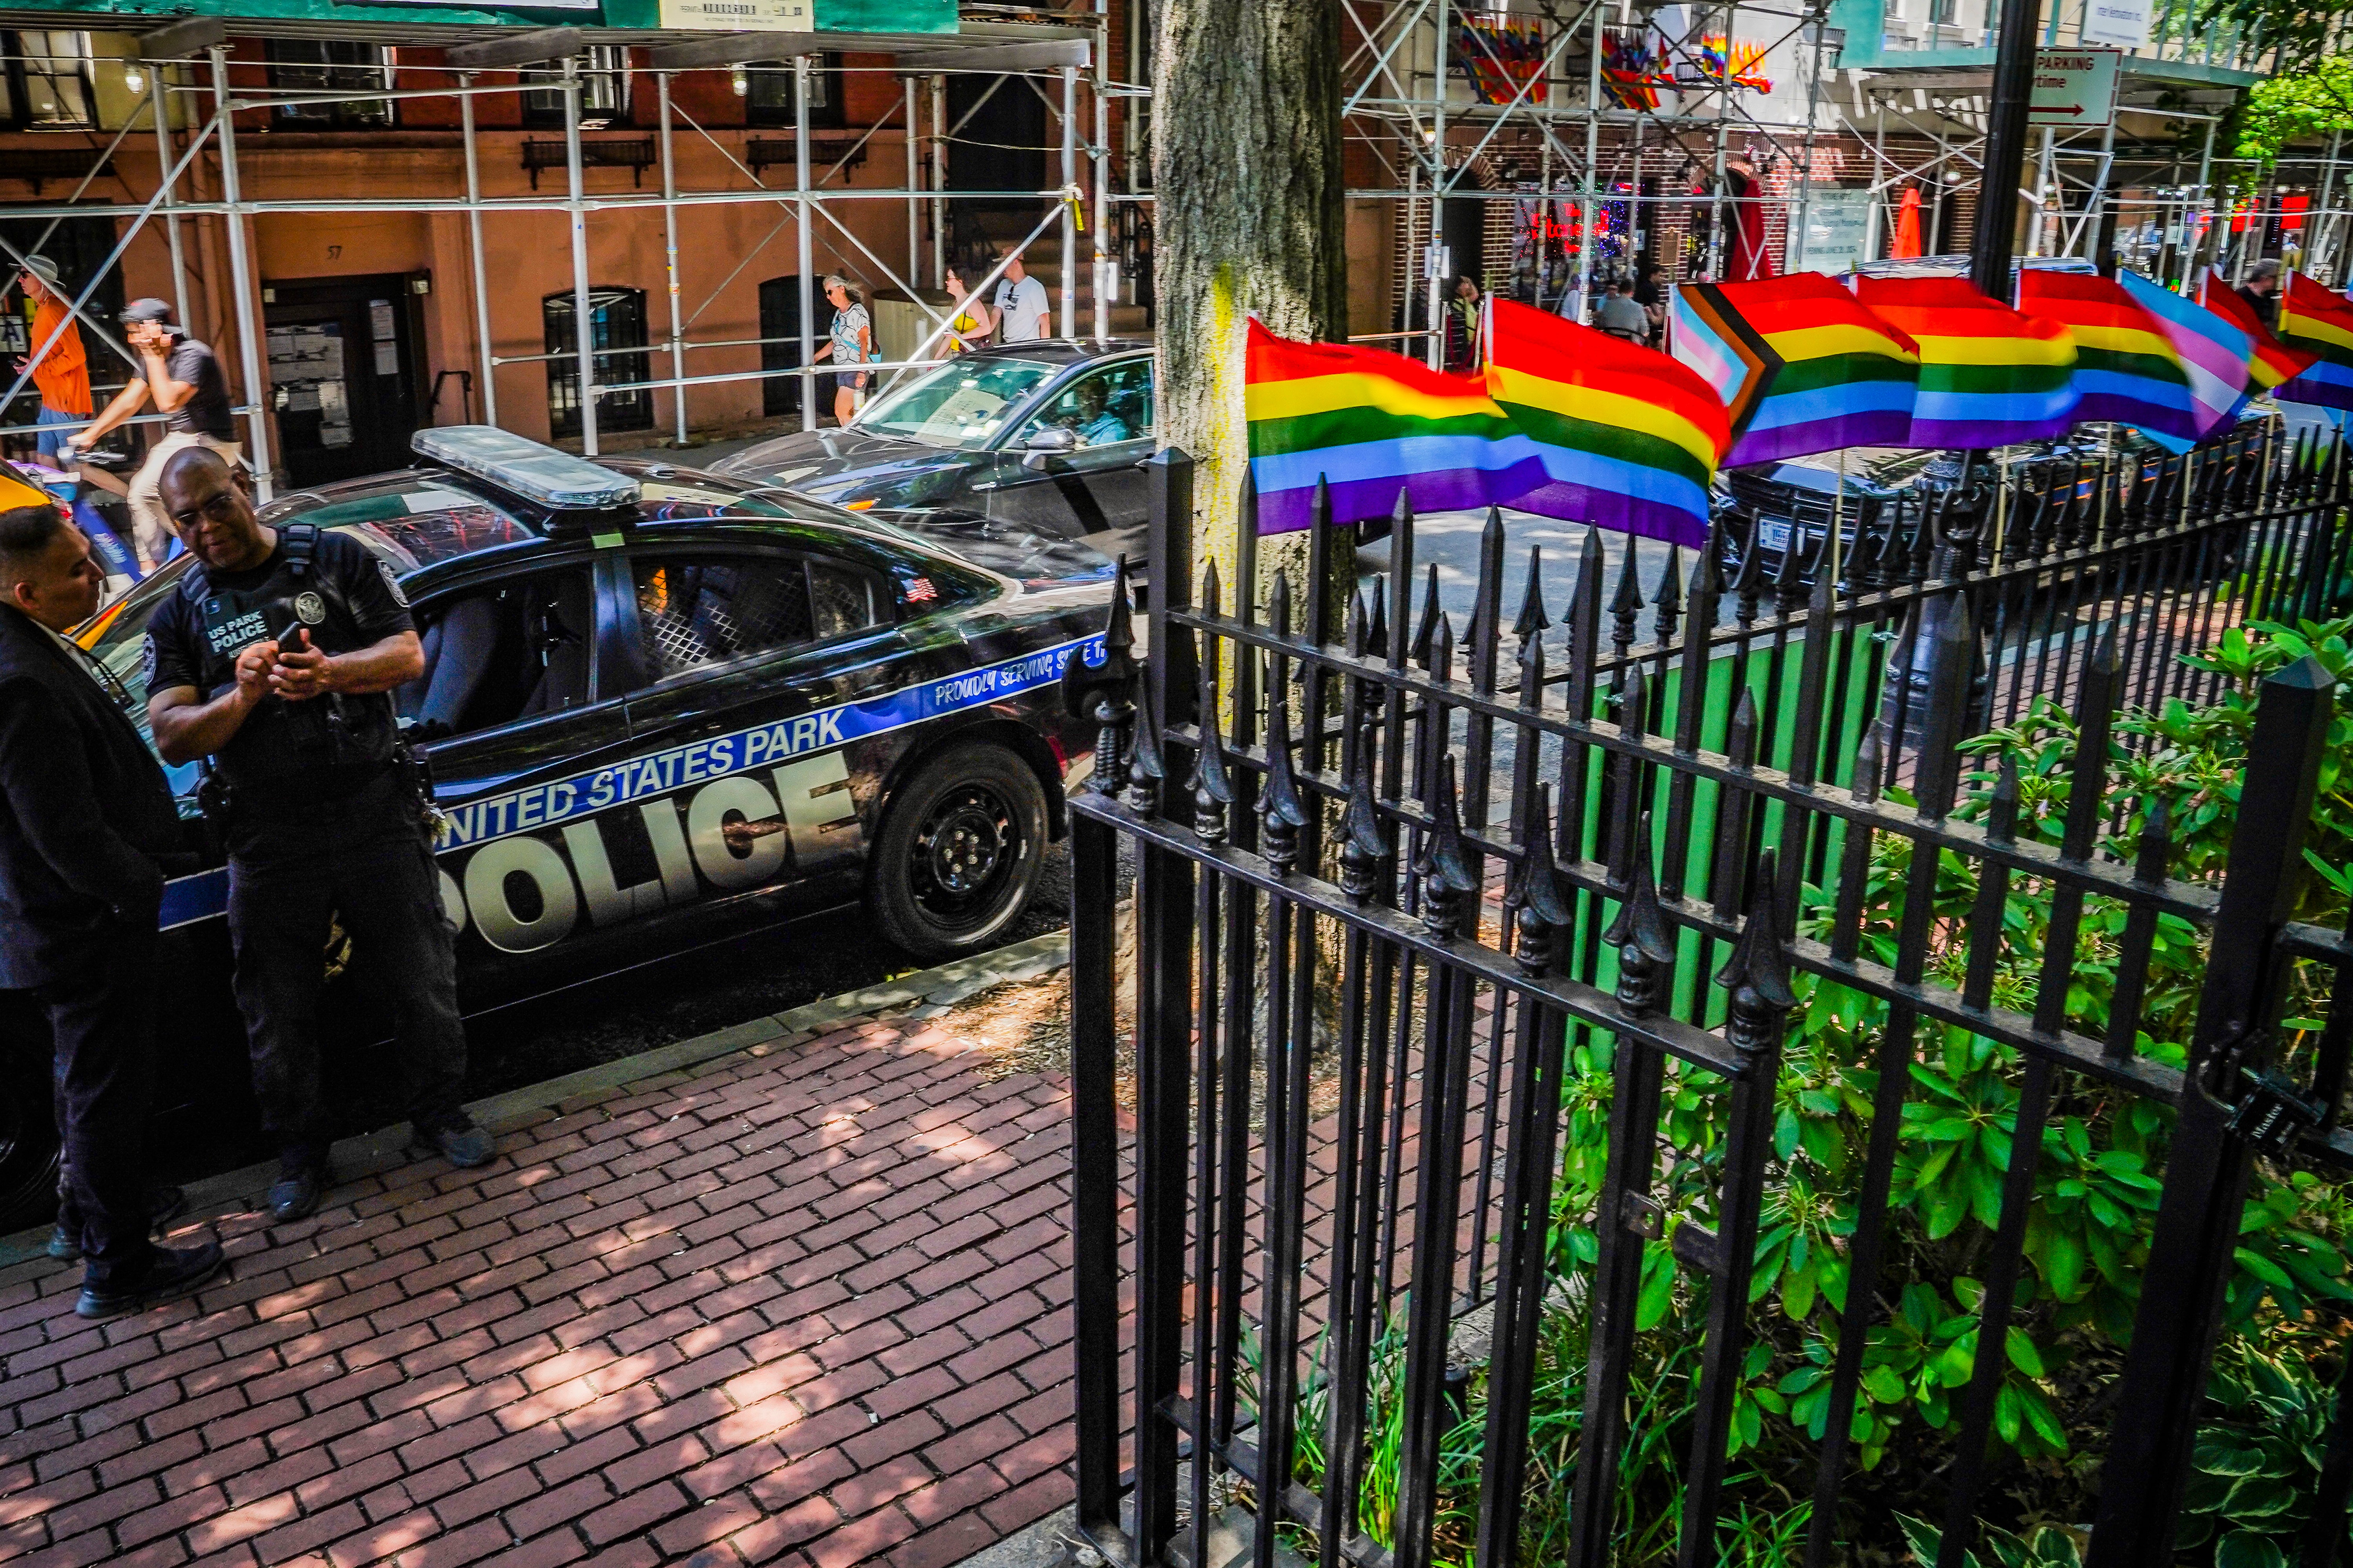
[[915, 957], [948, 959], [1005, 933], [1028, 907], [1045, 844], [1045, 788], [1000, 745], [958, 745], [899, 790], [875, 846], [871, 905]]

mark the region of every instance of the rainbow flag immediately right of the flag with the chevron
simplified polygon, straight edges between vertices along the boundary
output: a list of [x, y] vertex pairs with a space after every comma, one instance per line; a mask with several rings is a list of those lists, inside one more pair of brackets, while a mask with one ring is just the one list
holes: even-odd
[[2007, 447], [2075, 421], [2075, 341], [1960, 277], [1857, 277], [1854, 294], [1920, 348], [1906, 447]]

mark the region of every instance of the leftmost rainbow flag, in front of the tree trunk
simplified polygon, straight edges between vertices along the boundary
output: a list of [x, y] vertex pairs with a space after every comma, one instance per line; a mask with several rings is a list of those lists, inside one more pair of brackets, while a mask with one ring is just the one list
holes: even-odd
[[1534, 444], [1478, 378], [1381, 348], [1294, 343], [1252, 320], [1242, 411], [1259, 534], [1306, 529], [1318, 480], [1332, 482], [1332, 522], [1388, 517], [1400, 491], [1442, 512], [1544, 482]]

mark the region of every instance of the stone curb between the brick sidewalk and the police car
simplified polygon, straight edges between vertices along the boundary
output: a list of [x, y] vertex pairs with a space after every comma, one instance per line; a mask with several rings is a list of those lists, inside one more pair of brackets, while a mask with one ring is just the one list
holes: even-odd
[[[1068, 931], [1047, 931], [1045, 936], [1033, 936], [1026, 943], [976, 952], [967, 959], [939, 964], [936, 969], [922, 969], [882, 985], [868, 985], [866, 990], [842, 992], [840, 997], [824, 997], [786, 1013], [748, 1018], [725, 1030], [713, 1030], [711, 1034], [696, 1034], [694, 1039], [654, 1046], [652, 1051], [567, 1072], [541, 1084], [508, 1088], [506, 1093], [489, 1095], [487, 1100], [473, 1100], [466, 1110], [482, 1126], [501, 1131], [544, 1110], [586, 1110], [598, 1100], [614, 1098], [624, 1084], [640, 1084], [645, 1079], [685, 1072], [687, 1067], [699, 1067], [722, 1056], [751, 1051], [753, 1046], [800, 1044], [824, 1034], [838, 1023], [864, 1018], [866, 1013], [880, 1013], [882, 1009], [920, 1001], [925, 1004], [920, 1016], [936, 1016], [965, 997], [984, 992], [993, 985], [1005, 985], [1007, 980], [1033, 980], [1038, 976], [1054, 973], [1068, 961]], [[332, 1159], [339, 1182], [402, 1166], [412, 1159], [407, 1124], [344, 1138], [334, 1145]], [[207, 1175], [188, 1182], [188, 1213], [214, 1215], [259, 1208], [261, 1194], [266, 1194], [275, 1180], [278, 1161], [268, 1159], [256, 1166], [245, 1166], [242, 1171], [224, 1171], [221, 1175]], [[21, 1229], [14, 1237], [0, 1237], [0, 1269], [47, 1258], [47, 1246], [49, 1227], [45, 1225], [38, 1229]]]

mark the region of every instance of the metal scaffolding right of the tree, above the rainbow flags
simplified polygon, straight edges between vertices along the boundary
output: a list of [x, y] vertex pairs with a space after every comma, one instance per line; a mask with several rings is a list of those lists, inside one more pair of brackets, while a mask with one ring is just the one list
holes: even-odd
[[[1659, 228], [1680, 223], [1685, 233], [1706, 233], [1706, 247], [1694, 244], [1689, 273], [1722, 277], [1729, 202], [1772, 202], [1788, 223], [1786, 252], [1774, 261], [1805, 268], [1809, 205], [1824, 174], [1817, 153], [1828, 143], [1835, 162], [1866, 172], [1864, 188], [1878, 197], [1866, 237], [1866, 254], [1878, 254], [1894, 195], [1906, 183], [1941, 188], [1946, 176], [1962, 188], [1977, 183], [1995, 7], [1986, 0], [1885, 0], [1868, 7], [1868, 40], [1849, 40], [1835, 26], [1849, 9], [1838, 0], [1685, 7], [1358, 0], [1344, 7], [1344, 113], [1355, 167], [1372, 162], [1386, 174], [1386, 183], [1355, 181], [1348, 195], [1398, 209], [1405, 244], [1419, 247], [1407, 254], [1405, 282], [1426, 289], [1421, 329], [1365, 336], [1421, 341], [1438, 362], [1440, 334], [1431, 327], [1440, 308], [1445, 223], [1438, 214], [1445, 202], [1534, 202], [1537, 214], [1553, 212], [1555, 202], [1572, 205], [1574, 280], [1555, 287], [1546, 277], [1539, 242], [1534, 303], [1577, 315], [1600, 256], [1595, 219], [1609, 207], [1624, 209], [1626, 242], [1645, 252]], [[1913, 47], [1906, 9], [1925, 12], [1925, 47]], [[2089, 9], [2087, 0], [2045, 0], [2045, 45], [2082, 45]], [[2122, 103], [2134, 118], [2122, 139], [2113, 120], [2089, 132], [2045, 132], [2026, 190], [2035, 214], [2028, 256], [2089, 256], [2120, 216], [2141, 214], [2134, 244], [2144, 252], [2148, 226], [2158, 235], [2177, 233], [2165, 256], [2141, 256], [2167, 261], [2167, 275], [2186, 277], [2191, 261], [2245, 266], [2254, 247], [2226, 244], [2231, 197], [2224, 188], [2245, 165], [2214, 146], [2214, 132], [2228, 99], [2254, 78], [2238, 38], [2193, 26], [2195, 12], [2198, 0], [2158, 0], [2153, 40], [2122, 52], [2125, 75], [2141, 89]], [[1744, 26], [1755, 38], [1744, 40]], [[1774, 92], [1765, 73], [1795, 82]], [[1779, 176], [1737, 197], [1727, 165], [1739, 146], [1777, 162]], [[1480, 167], [1499, 150], [1522, 165], [1515, 176]], [[2304, 205], [2257, 200], [2240, 205], [2240, 219], [2261, 228], [2289, 207], [2287, 221], [2304, 226], [2301, 259], [2332, 275], [2353, 228], [2348, 174], [2334, 143], [2325, 160], [2287, 160], [2266, 186], [2308, 186]], [[1482, 176], [1492, 183], [1480, 183]], [[1958, 249], [1958, 235], [1941, 240], [1944, 249]], [[1414, 315], [1402, 299], [1398, 306], [1398, 315]], [[1393, 324], [1412, 327], [1412, 320]]]

